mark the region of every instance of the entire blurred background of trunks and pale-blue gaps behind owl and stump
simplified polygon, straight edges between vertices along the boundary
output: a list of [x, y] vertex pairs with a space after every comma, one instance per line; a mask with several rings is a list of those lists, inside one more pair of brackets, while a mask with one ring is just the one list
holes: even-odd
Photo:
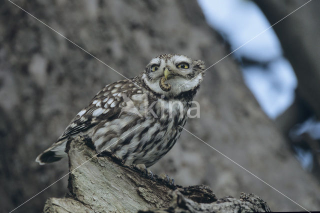
[[[68, 172], [34, 159], [104, 85], [123, 77], [0, 0], [0, 206], [10, 211]], [[161, 53], [210, 66], [306, 0], [12, 0], [127, 77]], [[206, 71], [185, 128], [308, 210], [320, 209], [320, 1], [310, 1]], [[183, 131], [151, 167], [217, 197], [254, 192], [302, 210]], [[67, 193], [67, 177], [17, 212]], [[2, 211], [1, 210], [1, 211]]]

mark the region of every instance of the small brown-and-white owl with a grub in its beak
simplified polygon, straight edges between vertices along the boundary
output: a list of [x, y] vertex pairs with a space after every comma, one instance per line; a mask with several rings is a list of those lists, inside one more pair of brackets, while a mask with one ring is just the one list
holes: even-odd
[[99, 153], [109, 149], [126, 164], [154, 164], [179, 138], [199, 84], [204, 62], [161, 54], [131, 79], [104, 86], [71, 120], [62, 135], [36, 158], [57, 161], [68, 137], [84, 133]]

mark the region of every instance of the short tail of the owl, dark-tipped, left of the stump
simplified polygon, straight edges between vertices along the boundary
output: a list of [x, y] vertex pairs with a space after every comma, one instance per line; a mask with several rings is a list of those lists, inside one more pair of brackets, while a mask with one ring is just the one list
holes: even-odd
[[44, 150], [39, 154], [35, 162], [38, 162], [40, 165], [58, 161], [62, 157], [65, 157], [67, 154], [64, 152], [66, 144], [66, 139], [53, 143], [49, 148]]

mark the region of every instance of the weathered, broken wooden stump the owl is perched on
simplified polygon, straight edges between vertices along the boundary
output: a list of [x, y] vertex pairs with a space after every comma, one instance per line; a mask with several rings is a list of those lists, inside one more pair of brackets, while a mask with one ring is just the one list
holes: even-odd
[[264, 212], [270, 208], [254, 194], [217, 199], [206, 186], [171, 184], [166, 176], [147, 176], [145, 166], [124, 165], [110, 152], [96, 156], [84, 136], [69, 140], [69, 194], [48, 198], [44, 212]]

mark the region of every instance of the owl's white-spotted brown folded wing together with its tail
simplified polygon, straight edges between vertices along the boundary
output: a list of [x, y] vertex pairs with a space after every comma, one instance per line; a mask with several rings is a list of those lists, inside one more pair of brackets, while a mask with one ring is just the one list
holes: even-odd
[[141, 88], [129, 80], [119, 80], [104, 86], [90, 103], [77, 113], [56, 142], [39, 154], [35, 161], [45, 164], [61, 159], [66, 155], [64, 149], [68, 136], [85, 132], [102, 121], [118, 117], [128, 105], [125, 99], [133, 98], [137, 93], [142, 93]]

